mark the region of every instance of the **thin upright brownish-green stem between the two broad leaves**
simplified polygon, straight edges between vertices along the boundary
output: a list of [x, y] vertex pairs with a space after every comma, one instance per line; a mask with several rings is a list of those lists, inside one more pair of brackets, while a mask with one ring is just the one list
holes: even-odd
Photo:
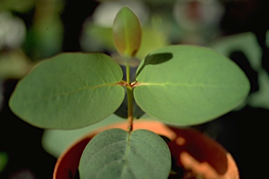
[[132, 131], [132, 121], [133, 121], [133, 115], [132, 115], [132, 102], [133, 102], [133, 88], [130, 84], [130, 66], [129, 64], [126, 65], [126, 89], [127, 89], [127, 115], [128, 115], [128, 126], [127, 130], [130, 132]]

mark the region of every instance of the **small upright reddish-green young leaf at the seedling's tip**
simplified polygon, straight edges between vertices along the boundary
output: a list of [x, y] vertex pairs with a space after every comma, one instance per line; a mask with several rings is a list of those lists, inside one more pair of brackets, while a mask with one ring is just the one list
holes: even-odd
[[141, 26], [130, 8], [121, 8], [113, 22], [113, 41], [116, 49], [124, 57], [135, 57], [141, 42]]

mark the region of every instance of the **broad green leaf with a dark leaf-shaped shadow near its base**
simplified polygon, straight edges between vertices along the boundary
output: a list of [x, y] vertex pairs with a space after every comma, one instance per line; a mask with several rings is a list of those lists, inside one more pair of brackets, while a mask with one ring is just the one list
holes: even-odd
[[179, 125], [200, 124], [235, 108], [249, 80], [230, 59], [209, 48], [172, 45], [151, 52], [137, 69], [137, 104]]

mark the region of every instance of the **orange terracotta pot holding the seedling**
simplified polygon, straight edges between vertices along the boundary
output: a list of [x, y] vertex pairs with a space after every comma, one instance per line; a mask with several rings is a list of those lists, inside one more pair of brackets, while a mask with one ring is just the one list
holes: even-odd
[[[112, 124], [75, 141], [57, 159], [53, 179], [76, 178], [80, 157], [90, 139], [100, 131], [112, 128], [126, 129], [127, 124], [126, 122]], [[184, 169], [184, 178], [195, 176], [205, 179], [239, 178], [237, 165], [230, 153], [199, 131], [167, 127], [161, 122], [148, 120], [136, 120], [134, 130], [136, 129], [148, 129], [171, 140], [167, 145], [170, 147], [177, 169]], [[178, 175], [178, 173], [171, 174], [170, 178], [178, 178]]]

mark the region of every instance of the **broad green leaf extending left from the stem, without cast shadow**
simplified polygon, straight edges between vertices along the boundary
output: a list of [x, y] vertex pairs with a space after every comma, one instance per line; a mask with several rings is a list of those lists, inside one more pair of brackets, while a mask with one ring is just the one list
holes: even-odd
[[10, 99], [15, 115], [36, 127], [76, 129], [111, 115], [122, 103], [120, 66], [102, 53], [62, 53], [36, 66]]

